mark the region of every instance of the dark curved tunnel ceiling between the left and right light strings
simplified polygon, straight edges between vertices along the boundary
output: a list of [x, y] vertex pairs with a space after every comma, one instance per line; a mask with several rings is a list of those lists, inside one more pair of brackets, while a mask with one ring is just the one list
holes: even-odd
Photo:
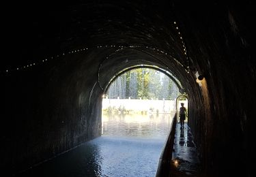
[[[14, 10], [19, 12], [17, 8]], [[187, 82], [186, 44], [171, 12], [162, 14], [154, 5], [130, 2], [84, 3], [51, 9], [38, 5], [33, 10], [22, 10], [29, 13], [10, 20], [15, 27], [9, 42], [19, 47], [17, 52], [8, 54], [12, 60], [1, 70], [87, 47], [91, 55], [100, 59], [97, 67], [102, 85], [111, 79], [106, 72], [113, 76], [138, 64], [156, 65], [171, 71], [182, 85]]]

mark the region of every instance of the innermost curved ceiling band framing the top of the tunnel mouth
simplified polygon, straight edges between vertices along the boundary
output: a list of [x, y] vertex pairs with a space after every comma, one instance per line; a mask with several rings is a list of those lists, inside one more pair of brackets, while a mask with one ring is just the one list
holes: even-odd
[[[102, 59], [98, 67], [98, 84], [103, 93], [106, 91], [106, 87], [109, 86], [109, 82], [113, 80], [113, 77], [127, 69], [132, 69], [132, 67], [154, 67], [154, 69], [169, 75], [169, 78], [174, 80], [180, 91], [187, 93], [184, 82], [187, 82], [191, 75], [187, 67], [167, 52], [149, 46], [136, 46], [136, 48], [134, 46], [127, 48], [122, 46], [110, 53], [104, 54], [106, 57]], [[177, 80], [180, 81], [180, 84], [177, 83]]]

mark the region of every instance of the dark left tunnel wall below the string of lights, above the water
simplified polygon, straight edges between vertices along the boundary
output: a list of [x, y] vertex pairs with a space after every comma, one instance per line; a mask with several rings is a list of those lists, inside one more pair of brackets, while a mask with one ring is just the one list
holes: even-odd
[[8, 172], [25, 170], [100, 135], [102, 90], [92, 62], [82, 53], [5, 76], [1, 161]]

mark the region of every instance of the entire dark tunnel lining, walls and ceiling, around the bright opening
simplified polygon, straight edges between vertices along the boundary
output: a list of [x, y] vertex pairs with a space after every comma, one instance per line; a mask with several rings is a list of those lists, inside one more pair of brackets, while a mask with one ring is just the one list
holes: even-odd
[[1, 167], [16, 174], [100, 136], [111, 79], [147, 65], [189, 97], [205, 174], [253, 176], [253, 2], [4, 3]]

